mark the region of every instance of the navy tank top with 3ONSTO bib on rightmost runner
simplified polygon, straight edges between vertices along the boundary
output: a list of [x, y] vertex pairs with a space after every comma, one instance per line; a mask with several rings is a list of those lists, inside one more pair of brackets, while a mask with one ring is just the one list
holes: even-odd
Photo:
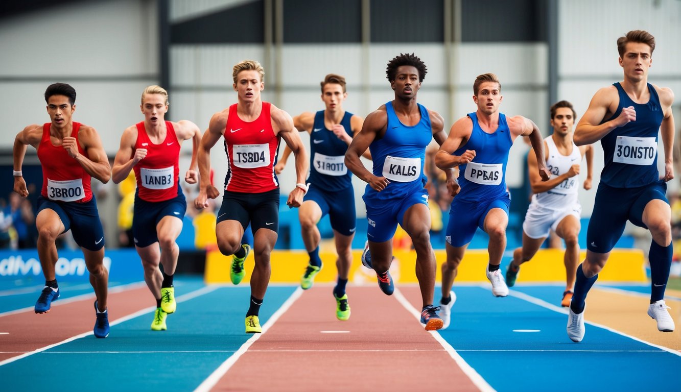
[[650, 101], [635, 103], [619, 82], [613, 86], [620, 95], [620, 103], [617, 112], [603, 122], [617, 118], [622, 108], [629, 106], [636, 110], [636, 120], [613, 129], [601, 139], [605, 157], [601, 182], [613, 188], [637, 188], [656, 182], [659, 180], [657, 135], [664, 117], [657, 91], [648, 83]]

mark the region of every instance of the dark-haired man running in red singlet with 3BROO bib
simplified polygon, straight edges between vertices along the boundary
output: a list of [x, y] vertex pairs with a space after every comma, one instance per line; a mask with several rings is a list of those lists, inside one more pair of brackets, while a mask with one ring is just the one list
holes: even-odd
[[106, 296], [109, 273], [104, 267], [104, 230], [97, 212], [97, 201], [90, 189], [91, 177], [106, 184], [111, 167], [93, 127], [73, 122], [76, 90], [65, 83], [54, 83], [45, 91], [51, 122], [24, 128], [14, 140], [14, 192], [27, 197], [29, 191], [22, 176], [27, 146], [37, 151], [42, 165], [43, 186], [38, 197], [35, 225], [37, 251], [45, 276], [45, 287], [35, 303], [36, 313], [50, 311], [59, 297], [54, 265], [59, 258], [54, 240], [69, 229], [80, 246], [95, 289], [94, 333], [97, 338], [109, 334]]

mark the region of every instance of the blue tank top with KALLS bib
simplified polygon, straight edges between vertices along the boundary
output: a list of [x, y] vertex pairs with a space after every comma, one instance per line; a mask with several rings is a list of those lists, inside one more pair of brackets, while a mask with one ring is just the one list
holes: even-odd
[[432, 127], [428, 110], [420, 104], [421, 120], [408, 127], [402, 124], [392, 108], [392, 101], [385, 103], [387, 125], [385, 135], [374, 140], [369, 150], [373, 159], [373, 174], [385, 177], [390, 184], [381, 192], [366, 185], [364, 197], [369, 199], [393, 199], [420, 191], [426, 184], [424, 159], [426, 146], [432, 139]]

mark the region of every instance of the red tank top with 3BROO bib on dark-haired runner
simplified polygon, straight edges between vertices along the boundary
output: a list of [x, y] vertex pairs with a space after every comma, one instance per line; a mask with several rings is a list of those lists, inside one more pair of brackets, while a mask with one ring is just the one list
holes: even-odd
[[[80, 122], [73, 122], [71, 137], [78, 140]], [[43, 137], [38, 145], [38, 159], [43, 171], [43, 187], [40, 192], [43, 197], [54, 201], [76, 201], [85, 203], [92, 199], [90, 189], [91, 176], [83, 167], [69, 157], [63, 146], [54, 146], [50, 140], [50, 125], [43, 125]], [[76, 143], [78, 152], [89, 158], [80, 143]]]

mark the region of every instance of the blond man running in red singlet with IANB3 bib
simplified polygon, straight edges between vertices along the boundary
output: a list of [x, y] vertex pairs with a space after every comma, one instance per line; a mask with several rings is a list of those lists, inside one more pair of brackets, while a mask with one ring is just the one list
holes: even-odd
[[[196, 152], [201, 132], [193, 122], [165, 121], [168, 112], [168, 92], [160, 86], [148, 86], [140, 105], [144, 121], [123, 131], [113, 167], [116, 184], [135, 171], [137, 192], [132, 231], [142, 266], [144, 281], [156, 299], [156, 311], [151, 329], [165, 331], [165, 318], [175, 312], [173, 275], [180, 248], [176, 240], [182, 231], [187, 201], [182, 192], [180, 145], [192, 139], [191, 163], [185, 181], [196, 184]], [[159, 268], [163, 265], [163, 272]]]

